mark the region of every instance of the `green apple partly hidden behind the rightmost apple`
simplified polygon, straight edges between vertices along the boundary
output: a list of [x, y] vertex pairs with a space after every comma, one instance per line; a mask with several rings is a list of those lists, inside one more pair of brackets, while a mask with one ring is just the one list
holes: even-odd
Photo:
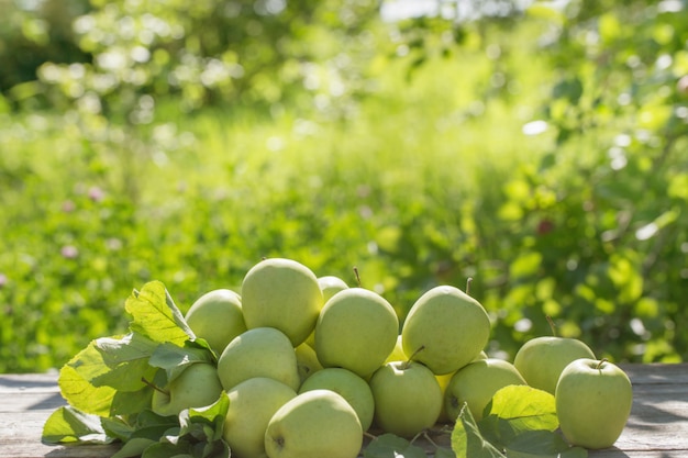
[[575, 338], [542, 336], [519, 348], [513, 365], [529, 386], [554, 394], [562, 370], [579, 358], [595, 359], [585, 343]]

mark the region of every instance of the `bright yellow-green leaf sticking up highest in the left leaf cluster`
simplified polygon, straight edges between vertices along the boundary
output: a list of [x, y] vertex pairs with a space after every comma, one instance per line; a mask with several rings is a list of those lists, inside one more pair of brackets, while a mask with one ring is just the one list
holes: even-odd
[[152, 340], [170, 342], [179, 346], [196, 336], [184, 320], [165, 286], [159, 281], [151, 281], [141, 291], [134, 291], [124, 308], [132, 315], [130, 328]]

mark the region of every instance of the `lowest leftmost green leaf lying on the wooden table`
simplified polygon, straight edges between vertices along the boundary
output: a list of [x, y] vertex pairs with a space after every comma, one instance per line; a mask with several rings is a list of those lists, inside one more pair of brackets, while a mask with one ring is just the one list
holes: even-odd
[[51, 414], [43, 425], [42, 439], [48, 444], [110, 444], [114, 440], [106, 434], [98, 415], [68, 405]]

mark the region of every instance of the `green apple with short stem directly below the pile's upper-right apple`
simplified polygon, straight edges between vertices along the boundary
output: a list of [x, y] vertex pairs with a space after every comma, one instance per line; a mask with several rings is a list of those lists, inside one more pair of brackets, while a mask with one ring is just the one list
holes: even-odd
[[415, 361], [391, 361], [373, 373], [374, 421], [387, 433], [413, 437], [433, 426], [442, 411], [435, 375]]

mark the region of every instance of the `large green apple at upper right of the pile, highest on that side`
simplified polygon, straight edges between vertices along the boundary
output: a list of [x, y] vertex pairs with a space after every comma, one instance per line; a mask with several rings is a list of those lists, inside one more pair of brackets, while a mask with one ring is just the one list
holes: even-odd
[[490, 320], [477, 300], [458, 288], [441, 286], [413, 303], [401, 336], [403, 353], [441, 376], [460, 369], [485, 348]]

